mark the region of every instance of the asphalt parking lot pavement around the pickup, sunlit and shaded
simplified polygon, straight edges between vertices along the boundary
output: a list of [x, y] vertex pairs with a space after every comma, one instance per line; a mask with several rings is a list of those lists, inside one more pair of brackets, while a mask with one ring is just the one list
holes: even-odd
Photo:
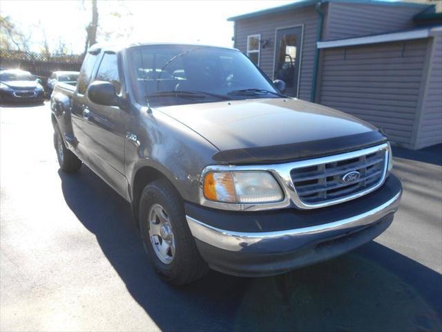
[[358, 250], [173, 288], [146, 264], [128, 204], [87, 167], [59, 171], [48, 104], [0, 120], [1, 331], [442, 331], [441, 147], [394, 149], [401, 209]]

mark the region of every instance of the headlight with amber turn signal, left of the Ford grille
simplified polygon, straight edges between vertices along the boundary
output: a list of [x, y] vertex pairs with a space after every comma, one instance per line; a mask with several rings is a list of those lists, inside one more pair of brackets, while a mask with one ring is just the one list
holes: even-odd
[[204, 176], [203, 194], [210, 201], [222, 203], [271, 203], [284, 194], [269, 172], [208, 172]]

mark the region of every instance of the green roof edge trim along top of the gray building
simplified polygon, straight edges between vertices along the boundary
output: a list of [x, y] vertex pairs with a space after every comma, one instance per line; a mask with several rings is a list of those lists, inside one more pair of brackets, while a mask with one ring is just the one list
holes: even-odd
[[[307, 6], [314, 6], [318, 2], [320, 2], [320, 0], [300, 0], [294, 3], [289, 3], [284, 6], [273, 7], [264, 10], [258, 10], [258, 12], [249, 12], [247, 14], [229, 17], [227, 21], [239, 21], [240, 19], [249, 19], [251, 17], [260, 17], [262, 15], [276, 14], [278, 12], [285, 12], [286, 10], [292, 10]], [[412, 3], [412, 2], [403, 2], [403, 1], [382, 1], [382, 0], [323, 0], [321, 2], [323, 3], [347, 2], [347, 3], [376, 4], [384, 6], [418, 6], [421, 8], [434, 7], [434, 5], [428, 5], [425, 3]]]

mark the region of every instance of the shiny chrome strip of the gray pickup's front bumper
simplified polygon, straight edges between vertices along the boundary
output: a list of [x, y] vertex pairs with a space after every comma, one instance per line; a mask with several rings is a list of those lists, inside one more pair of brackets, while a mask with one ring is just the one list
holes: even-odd
[[398, 192], [398, 194], [392, 199], [377, 208], [364, 212], [363, 214], [358, 214], [357, 216], [352, 216], [351, 218], [334, 221], [332, 223], [324, 223], [322, 225], [296, 228], [294, 230], [280, 230], [275, 232], [233, 232], [230, 230], [220, 230], [219, 228], [206, 225], [190, 216], [186, 216], [186, 219], [193, 237], [196, 239], [224, 250], [240, 251], [244, 247], [251, 246], [262, 240], [265, 240], [265, 242], [271, 246], [271, 243], [277, 243], [282, 239], [296, 239], [296, 237], [305, 235], [325, 234], [336, 230], [367, 226], [382, 219], [384, 216], [387, 216], [387, 214], [396, 212], [401, 201], [401, 195], [402, 192]]

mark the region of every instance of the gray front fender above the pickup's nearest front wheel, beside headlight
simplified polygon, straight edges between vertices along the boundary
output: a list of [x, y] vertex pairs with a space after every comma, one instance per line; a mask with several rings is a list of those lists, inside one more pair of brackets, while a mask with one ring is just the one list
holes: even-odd
[[199, 203], [200, 174], [213, 164], [216, 149], [181, 122], [153, 109], [140, 111], [128, 124], [136, 141], [126, 140], [128, 199], [134, 199], [135, 176], [142, 167], [152, 167], [171, 181], [185, 201]]

